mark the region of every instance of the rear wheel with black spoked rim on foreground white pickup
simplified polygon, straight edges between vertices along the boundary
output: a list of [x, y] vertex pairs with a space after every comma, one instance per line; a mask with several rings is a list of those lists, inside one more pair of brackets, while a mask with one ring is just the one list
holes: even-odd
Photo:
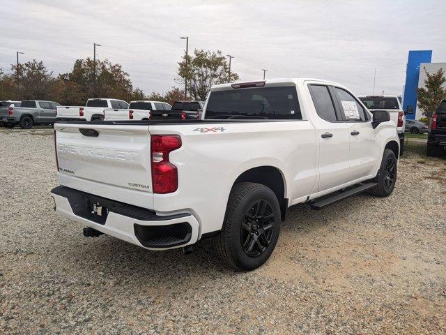
[[261, 184], [240, 183], [229, 195], [223, 227], [213, 237], [213, 244], [226, 265], [250, 271], [268, 260], [279, 232], [280, 207], [275, 193]]

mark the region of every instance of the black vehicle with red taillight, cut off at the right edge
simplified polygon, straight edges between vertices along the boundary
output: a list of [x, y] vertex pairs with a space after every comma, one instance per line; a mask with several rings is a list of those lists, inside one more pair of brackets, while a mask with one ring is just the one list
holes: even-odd
[[427, 133], [427, 156], [446, 155], [446, 99], [432, 114]]

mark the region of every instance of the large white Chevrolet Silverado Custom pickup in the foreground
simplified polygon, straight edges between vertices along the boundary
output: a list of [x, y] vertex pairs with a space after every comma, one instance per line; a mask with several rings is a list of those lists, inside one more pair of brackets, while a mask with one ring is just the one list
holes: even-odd
[[88, 226], [85, 236], [185, 252], [212, 237], [226, 265], [242, 270], [270, 257], [288, 207], [320, 209], [362, 191], [387, 197], [397, 180], [389, 112], [372, 117], [325, 80], [216, 85], [199, 120], [54, 128], [54, 209]]

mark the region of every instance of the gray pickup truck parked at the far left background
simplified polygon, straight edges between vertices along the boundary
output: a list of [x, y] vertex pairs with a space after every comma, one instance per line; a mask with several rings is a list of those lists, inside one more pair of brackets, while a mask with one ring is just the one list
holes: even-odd
[[0, 121], [3, 126], [13, 128], [17, 124], [22, 129], [33, 128], [36, 124], [54, 124], [56, 121], [56, 107], [54, 101], [27, 100], [20, 103], [20, 107], [8, 107], [0, 110]]

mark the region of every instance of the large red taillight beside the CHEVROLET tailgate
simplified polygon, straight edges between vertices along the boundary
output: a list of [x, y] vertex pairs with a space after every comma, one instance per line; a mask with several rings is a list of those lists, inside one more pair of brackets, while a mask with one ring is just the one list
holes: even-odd
[[178, 171], [169, 161], [169, 153], [181, 147], [178, 135], [152, 135], [152, 187], [153, 193], [172, 193], [178, 188]]

